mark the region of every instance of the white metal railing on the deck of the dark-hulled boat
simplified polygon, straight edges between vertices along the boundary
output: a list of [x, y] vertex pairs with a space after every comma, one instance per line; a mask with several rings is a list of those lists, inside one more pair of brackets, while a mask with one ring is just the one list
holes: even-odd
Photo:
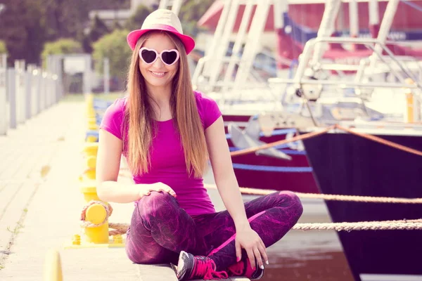
[[[362, 58], [359, 65], [350, 65], [345, 63], [323, 63], [320, 60], [318, 63], [311, 63], [312, 54], [314, 48], [317, 44], [363, 44], [372, 51], [372, 54], [369, 57]], [[337, 86], [339, 88], [365, 88], [365, 89], [374, 89], [374, 88], [390, 88], [390, 89], [415, 89], [415, 94], [418, 99], [421, 100], [421, 91], [422, 85], [420, 83], [419, 77], [414, 75], [414, 72], [409, 70], [409, 65], [406, 62], [418, 63], [416, 59], [411, 59], [409, 57], [400, 58], [397, 55], [394, 55], [392, 51], [386, 46], [388, 44], [397, 44], [394, 41], [385, 41], [381, 43], [378, 39], [362, 39], [362, 38], [347, 38], [347, 37], [319, 37], [310, 39], [305, 44], [303, 53], [299, 58], [299, 65], [295, 72], [295, 76], [292, 79], [283, 79], [283, 78], [271, 78], [269, 79], [269, 84], [286, 84], [293, 86], [295, 91], [302, 91], [306, 85], [320, 86]], [[375, 46], [379, 46], [381, 51], [378, 51]], [[386, 53], [386, 55], [383, 55]], [[388, 82], [388, 81], [371, 81], [367, 79], [371, 74], [377, 73], [377, 67], [387, 67], [383, 72], [389, 72], [392, 74], [397, 81]], [[319, 71], [355, 71], [357, 74], [354, 79], [316, 79], [314, 76], [307, 74], [307, 71], [312, 70], [312, 73]], [[421, 64], [418, 63], [418, 72], [421, 72]], [[419, 73], [420, 74], [420, 73]], [[366, 78], [366, 79], [365, 79]], [[410, 79], [410, 80], [409, 80]], [[411, 81], [411, 83], [409, 83]], [[303, 96], [307, 98], [307, 96]]]

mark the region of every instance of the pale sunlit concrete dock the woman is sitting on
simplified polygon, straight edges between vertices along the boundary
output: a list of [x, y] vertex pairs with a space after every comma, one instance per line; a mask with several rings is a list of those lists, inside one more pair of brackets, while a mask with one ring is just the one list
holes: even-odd
[[[66, 281], [177, 280], [169, 267], [133, 264], [123, 248], [63, 249], [82, 230], [84, 109], [58, 103], [0, 137], [0, 280], [41, 280], [49, 249]], [[109, 221], [129, 223], [133, 204], [112, 205]]]

